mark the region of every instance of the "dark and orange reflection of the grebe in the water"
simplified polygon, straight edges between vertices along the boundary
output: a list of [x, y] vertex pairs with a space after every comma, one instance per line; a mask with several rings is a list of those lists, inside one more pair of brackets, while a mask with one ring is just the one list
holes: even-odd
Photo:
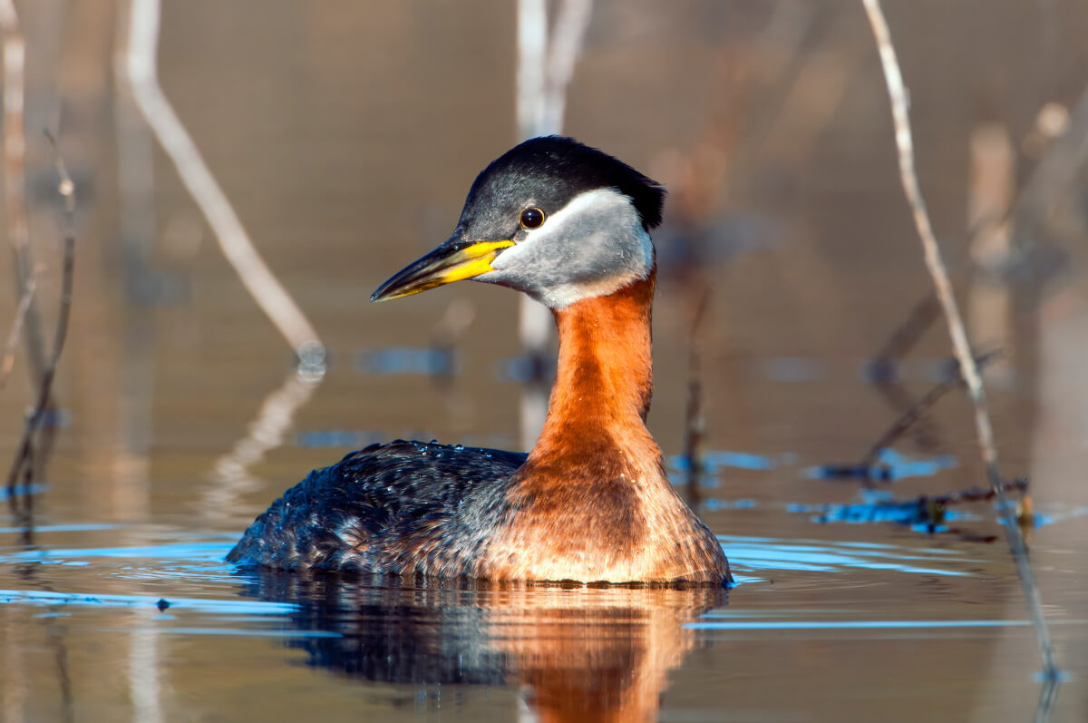
[[[653, 721], [684, 624], [720, 586], [415, 587], [398, 579], [247, 571], [244, 595], [297, 605], [307, 664], [370, 683], [520, 685], [536, 721]], [[313, 635], [332, 633], [334, 635]], [[309, 635], [308, 635], [309, 634]]]

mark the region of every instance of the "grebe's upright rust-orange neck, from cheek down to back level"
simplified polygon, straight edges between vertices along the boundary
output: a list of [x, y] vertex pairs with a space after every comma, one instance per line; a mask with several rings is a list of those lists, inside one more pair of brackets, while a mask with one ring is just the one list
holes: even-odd
[[[650, 322], [655, 273], [555, 311], [559, 364], [533, 457], [645, 438], [653, 393]], [[656, 446], [655, 446], [656, 449]]]

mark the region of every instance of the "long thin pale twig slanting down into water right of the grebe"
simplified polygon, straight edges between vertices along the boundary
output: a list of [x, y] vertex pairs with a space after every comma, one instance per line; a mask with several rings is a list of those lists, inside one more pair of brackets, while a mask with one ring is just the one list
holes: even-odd
[[993, 443], [993, 428], [990, 425], [990, 416], [986, 406], [986, 391], [982, 388], [982, 380], [978, 373], [978, 366], [975, 364], [975, 358], [970, 352], [967, 332], [964, 329], [963, 319], [960, 316], [960, 309], [952, 293], [952, 284], [949, 282], [948, 271], [941, 259], [940, 247], [937, 244], [937, 237], [934, 235], [925, 200], [922, 197], [922, 189], [918, 186], [918, 176], [914, 169], [914, 139], [911, 135], [911, 119], [907, 113], [906, 87], [903, 84], [903, 75], [899, 68], [899, 61], [895, 58], [891, 33], [888, 29], [888, 22], [885, 20], [883, 11], [880, 9], [879, 0], [862, 0], [862, 2], [865, 5], [865, 12], [868, 14], [869, 24], [873, 26], [873, 35], [876, 38], [877, 49], [880, 53], [885, 81], [888, 84], [888, 95], [891, 98], [903, 193], [906, 195], [907, 204], [914, 215], [915, 226], [922, 238], [926, 266], [934, 279], [934, 286], [941, 302], [941, 308], [944, 311], [949, 335], [952, 338], [952, 348], [960, 360], [961, 373], [967, 384], [972, 402], [975, 405], [975, 427], [978, 432], [978, 443], [982, 461], [986, 463], [986, 471], [990, 480], [990, 486], [993, 488], [1000, 502], [1001, 514], [1005, 523], [1005, 534], [1009, 536], [1009, 547], [1016, 562], [1016, 571], [1019, 574], [1021, 583], [1024, 586], [1024, 592], [1027, 596], [1028, 605], [1031, 610], [1044, 674], [1048, 678], [1056, 678], [1058, 666], [1054, 663], [1050, 632], [1047, 628], [1047, 620], [1042, 612], [1039, 587], [1035, 581], [1035, 574], [1027, 557], [1024, 536], [1021, 534], [1013, 511], [1009, 506], [1004, 490], [1004, 480], [1001, 477], [1001, 470], [998, 468], [998, 452]]

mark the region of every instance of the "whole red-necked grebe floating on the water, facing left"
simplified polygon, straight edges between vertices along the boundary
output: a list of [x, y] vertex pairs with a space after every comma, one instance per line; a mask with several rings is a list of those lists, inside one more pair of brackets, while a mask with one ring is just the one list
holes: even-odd
[[529, 455], [397, 440], [317, 469], [227, 555], [325, 568], [584, 583], [728, 583], [646, 430], [650, 230], [665, 191], [599, 150], [527, 140], [477, 176], [454, 235], [371, 296], [462, 279], [552, 309], [559, 362]]

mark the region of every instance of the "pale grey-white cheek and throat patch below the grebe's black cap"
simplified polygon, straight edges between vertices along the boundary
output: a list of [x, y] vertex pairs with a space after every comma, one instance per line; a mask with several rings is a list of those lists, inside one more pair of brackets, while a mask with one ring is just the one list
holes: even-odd
[[654, 246], [631, 199], [613, 188], [576, 196], [478, 277], [523, 291], [552, 308], [610, 294], [645, 279]]

